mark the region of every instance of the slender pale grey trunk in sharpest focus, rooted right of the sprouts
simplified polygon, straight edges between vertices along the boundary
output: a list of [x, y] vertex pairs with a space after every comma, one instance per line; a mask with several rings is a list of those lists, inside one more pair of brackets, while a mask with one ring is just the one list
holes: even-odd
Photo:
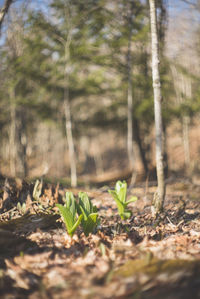
[[157, 32], [157, 13], [155, 0], [149, 0], [152, 41], [152, 79], [154, 91], [154, 117], [156, 132], [156, 171], [158, 188], [154, 194], [154, 208], [156, 214], [163, 209], [165, 199], [164, 161], [163, 161], [163, 125], [162, 125], [162, 94], [159, 73], [159, 46]]

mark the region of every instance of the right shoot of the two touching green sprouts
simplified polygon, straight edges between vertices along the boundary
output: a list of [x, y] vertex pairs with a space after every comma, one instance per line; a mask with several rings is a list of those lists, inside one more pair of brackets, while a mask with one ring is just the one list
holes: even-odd
[[84, 234], [88, 236], [89, 233], [92, 233], [98, 225], [97, 207], [93, 206], [91, 200], [85, 192], [79, 192], [78, 197], [78, 213], [79, 215], [83, 215], [81, 224]]

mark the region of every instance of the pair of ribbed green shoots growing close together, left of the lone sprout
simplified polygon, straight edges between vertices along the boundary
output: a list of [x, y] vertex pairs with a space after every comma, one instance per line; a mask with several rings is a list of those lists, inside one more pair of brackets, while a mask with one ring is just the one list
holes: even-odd
[[92, 233], [98, 224], [96, 206], [85, 192], [79, 192], [78, 201], [72, 192], [66, 192], [65, 204], [57, 204], [59, 212], [66, 225], [68, 234], [72, 237], [79, 225], [82, 226], [86, 236]]

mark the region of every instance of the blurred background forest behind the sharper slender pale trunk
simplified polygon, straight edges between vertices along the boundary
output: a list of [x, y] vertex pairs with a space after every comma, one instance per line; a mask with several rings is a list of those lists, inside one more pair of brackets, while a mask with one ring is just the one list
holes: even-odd
[[[157, 2], [166, 172], [198, 174], [199, 6]], [[1, 174], [76, 186], [152, 173], [148, 1], [16, 1], [0, 61]]]

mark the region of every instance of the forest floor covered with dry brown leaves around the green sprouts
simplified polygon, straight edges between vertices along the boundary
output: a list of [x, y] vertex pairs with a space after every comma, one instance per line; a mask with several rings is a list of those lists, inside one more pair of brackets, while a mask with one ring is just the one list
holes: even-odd
[[0, 298], [200, 298], [200, 185], [172, 180], [158, 219], [155, 187], [131, 188], [138, 201], [125, 222], [107, 188], [84, 190], [101, 223], [72, 239], [55, 207], [66, 188], [40, 184], [37, 199], [33, 188], [0, 186]]

